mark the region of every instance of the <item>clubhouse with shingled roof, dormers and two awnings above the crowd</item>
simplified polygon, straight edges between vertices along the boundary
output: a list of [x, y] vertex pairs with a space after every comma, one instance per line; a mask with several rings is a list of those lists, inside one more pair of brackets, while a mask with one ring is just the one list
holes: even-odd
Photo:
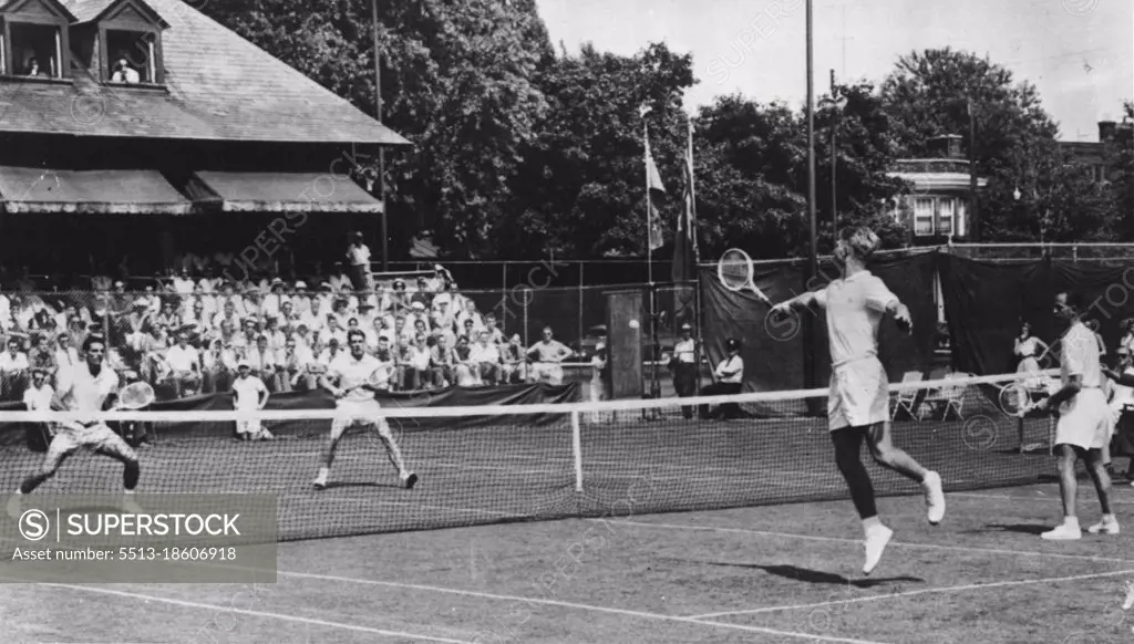
[[179, 0], [0, 0], [6, 269], [152, 274], [265, 230], [273, 261], [337, 261], [376, 229], [383, 145], [408, 142]]

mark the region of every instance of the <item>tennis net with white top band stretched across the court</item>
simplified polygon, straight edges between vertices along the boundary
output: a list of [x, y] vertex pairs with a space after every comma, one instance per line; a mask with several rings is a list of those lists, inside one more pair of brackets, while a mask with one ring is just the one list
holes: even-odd
[[[998, 396], [1016, 375], [891, 385], [895, 443], [947, 491], [1026, 484], [1053, 473], [1050, 417], [1017, 422]], [[730, 397], [549, 405], [388, 406], [381, 414], [409, 469], [406, 490], [381, 438], [362, 427], [338, 446], [324, 490], [312, 482], [335, 409], [113, 412], [145, 423], [139, 493], [269, 493], [280, 540], [417, 531], [511, 520], [628, 516], [847, 498], [826, 417], [776, 412], [826, 390]], [[721, 404], [730, 420], [699, 420]], [[729, 407], [731, 406], [731, 407]], [[799, 408], [798, 404], [790, 406]], [[686, 414], [692, 416], [687, 420]], [[45, 421], [66, 413], [0, 412], [0, 490], [42, 461]], [[256, 417], [273, 440], [237, 441], [235, 421]], [[1025, 443], [1042, 449], [1021, 454]], [[864, 459], [869, 456], [864, 452]], [[916, 494], [902, 476], [869, 465], [880, 495]], [[115, 493], [121, 466], [81, 450], [35, 493]]]

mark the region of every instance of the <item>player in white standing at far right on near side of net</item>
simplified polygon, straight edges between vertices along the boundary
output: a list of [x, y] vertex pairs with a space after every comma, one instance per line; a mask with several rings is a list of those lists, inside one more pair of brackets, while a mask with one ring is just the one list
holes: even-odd
[[1110, 407], [1102, 392], [1100, 346], [1094, 331], [1080, 319], [1083, 296], [1077, 293], [1056, 295], [1055, 314], [1069, 328], [1060, 341], [1063, 388], [1036, 405], [1040, 410], [1056, 410], [1056, 455], [1059, 457], [1059, 492], [1064, 502], [1064, 520], [1040, 536], [1049, 541], [1073, 541], [1083, 536], [1075, 509], [1078, 481], [1075, 464], [1086, 463], [1102, 507], [1102, 520], [1088, 528], [1091, 534], [1118, 534], [1118, 519], [1110, 508], [1110, 475], [1102, 463], [1102, 447], [1110, 440]]

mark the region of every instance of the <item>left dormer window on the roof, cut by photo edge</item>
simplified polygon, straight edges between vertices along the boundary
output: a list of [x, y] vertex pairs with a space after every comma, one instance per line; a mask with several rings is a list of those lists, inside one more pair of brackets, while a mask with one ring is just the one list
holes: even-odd
[[67, 24], [74, 18], [54, 0], [0, 0], [0, 74], [66, 78], [70, 69]]

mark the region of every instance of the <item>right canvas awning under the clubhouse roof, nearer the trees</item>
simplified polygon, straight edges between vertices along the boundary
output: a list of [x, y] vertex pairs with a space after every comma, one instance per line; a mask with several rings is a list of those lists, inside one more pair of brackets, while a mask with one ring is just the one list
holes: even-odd
[[189, 195], [223, 212], [382, 212], [348, 177], [319, 172], [196, 172]]

